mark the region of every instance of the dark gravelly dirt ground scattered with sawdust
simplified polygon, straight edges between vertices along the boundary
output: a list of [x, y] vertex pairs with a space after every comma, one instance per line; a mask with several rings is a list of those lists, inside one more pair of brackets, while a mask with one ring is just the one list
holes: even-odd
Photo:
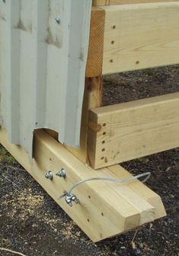
[[[168, 92], [179, 92], [179, 66], [106, 76], [103, 103], [127, 102]], [[134, 174], [152, 173], [147, 185], [161, 196], [168, 215], [94, 244], [1, 146], [0, 248], [26, 256], [178, 256], [179, 148], [131, 160], [122, 166]], [[0, 255], [16, 254], [0, 250]]]

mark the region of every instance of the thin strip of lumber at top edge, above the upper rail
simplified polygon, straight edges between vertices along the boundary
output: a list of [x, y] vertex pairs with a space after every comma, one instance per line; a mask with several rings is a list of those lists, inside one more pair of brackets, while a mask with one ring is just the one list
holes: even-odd
[[93, 0], [93, 6], [101, 5], [129, 5], [129, 4], [143, 4], [152, 2], [178, 2], [178, 0]]

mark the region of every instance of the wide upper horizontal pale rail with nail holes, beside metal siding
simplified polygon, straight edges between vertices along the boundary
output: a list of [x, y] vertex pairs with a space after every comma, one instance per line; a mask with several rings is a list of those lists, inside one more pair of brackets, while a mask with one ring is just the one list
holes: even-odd
[[[179, 2], [101, 9], [105, 11], [102, 74], [179, 63]], [[94, 44], [97, 48], [97, 37]], [[89, 54], [88, 65], [92, 64]]]

